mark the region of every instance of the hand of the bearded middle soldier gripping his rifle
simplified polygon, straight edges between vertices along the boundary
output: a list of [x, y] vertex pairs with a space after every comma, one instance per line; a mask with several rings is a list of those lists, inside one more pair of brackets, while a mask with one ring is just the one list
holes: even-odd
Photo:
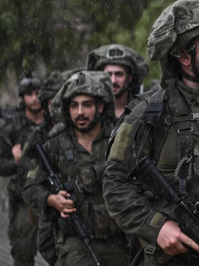
[[66, 191], [59, 191], [58, 194], [52, 194], [47, 198], [47, 203], [50, 206], [53, 206], [57, 210], [61, 212], [61, 216], [63, 218], [69, 217], [69, 213], [75, 212], [76, 209], [74, 208], [74, 201], [70, 199], [66, 199], [66, 197], [69, 197], [70, 194], [68, 194]]

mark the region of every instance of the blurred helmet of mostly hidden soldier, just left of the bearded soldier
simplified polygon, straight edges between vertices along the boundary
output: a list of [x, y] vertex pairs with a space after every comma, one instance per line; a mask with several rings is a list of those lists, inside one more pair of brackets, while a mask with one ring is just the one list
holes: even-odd
[[49, 99], [54, 98], [56, 93], [61, 89], [64, 81], [62, 80], [60, 71], [53, 71], [49, 78], [47, 78], [42, 89], [39, 91], [39, 100], [44, 106]]

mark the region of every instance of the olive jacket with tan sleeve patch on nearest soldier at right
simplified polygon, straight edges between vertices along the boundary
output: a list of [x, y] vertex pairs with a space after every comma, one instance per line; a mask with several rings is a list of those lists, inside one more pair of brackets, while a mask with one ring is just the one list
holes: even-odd
[[[156, 129], [150, 131], [139, 158], [141, 160], [147, 155], [154, 159], [157, 168], [178, 191], [179, 182], [175, 180], [174, 172], [178, 165], [179, 134], [174, 125], [165, 123], [164, 118], [169, 114], [179, 116], [192, 113], [193, 94], [186, 91], [189, 89], [179, 80], [176, 85], [175, 88], [168, 89], [165, 93], [163, 100], [165, 105], [160, 119], [162, 122]], [[108, 146], [107, 168], [103, 175], [103, 196], [109, 214], [125, 233], [137, 235], [144, 248], [149, 243], [156, 245], [159, 231], [166, 219], [175, 220], [171, 211], [174, 205], [169, 205], [152, 188], [139, 183], [136, 179], [131, 179], [130, 182], [125, 181], [135, 166], [145, 132], [143, 115], [151, 98], [149, 94], [150, 92], [145, 93], [145, 97], [142, 96], [143, 100], [138, 101], [137, 106], [124, 116], [119, 129], [116, 126], [117, 133], [113, 143], [110, 142]], [[133, 102], [130, 105], [132, 104]], [[195, 106], [199, 111], [199, 105]], [[199, 169], [199, 139], [197, 135], [192, 134], [192, 137], [195, 139], [195, 165]], [[144, 183], [145, 181], [143, 180]], [[197, 200], [199, 199], [198, 184], [196, 177], [192, 177], [187, 182], [187, 191]], [[163, 263], [171, 259], [169, 255], [165, 255], [163, 250], [158, 252], [160, 252], [156, 253], [158, 255], [152, 256], [153, 261]]]

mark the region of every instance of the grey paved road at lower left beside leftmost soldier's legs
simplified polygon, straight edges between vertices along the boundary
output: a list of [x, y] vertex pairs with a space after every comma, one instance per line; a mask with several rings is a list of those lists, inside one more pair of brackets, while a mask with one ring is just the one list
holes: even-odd
[[[3, 188], [0, 178], [1, 188]], [[4, 192], [4, 193], [3, 193]], [[13, 259], [10, 255], [10, 244], [7, 236], [8, 228], [8, 199], [6, 190], [0, 193], [0, 266], [13, 266]], [[49, 266], [49, 264], [37, 253], [35, 266]]]

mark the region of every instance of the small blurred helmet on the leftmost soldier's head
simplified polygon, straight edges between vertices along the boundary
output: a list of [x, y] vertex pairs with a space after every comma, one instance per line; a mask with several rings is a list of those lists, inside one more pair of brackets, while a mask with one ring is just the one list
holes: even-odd
[[29, 93], [30, 91], [40, 90], [42, 87], [42, 81], [39, 78], [33, 77], [32, 73], [26, 74], [26, 78], [23, 78], [18, 87], [19, 97], [23, 96], [24, 93]]

